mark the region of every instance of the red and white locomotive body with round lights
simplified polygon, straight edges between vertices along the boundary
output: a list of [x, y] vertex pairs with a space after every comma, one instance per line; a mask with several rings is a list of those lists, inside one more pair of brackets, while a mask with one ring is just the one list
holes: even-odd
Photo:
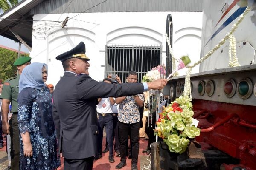
[[[204, 0], [201, 57], [218, 45], [246, 9], [238, 1]], [[233, 33], [241, 66], [228, 67], [227, 40], [201, 62], [199, 73], [190, 76], [194, 118], [201, 129], [195, 140], [204, 154], [202, 169], [256, 170], [255, 13], [252, 7]], [[173, 101], [182, 95], [184, 82], [185, 76], [173, 77], [164, 95]]]

